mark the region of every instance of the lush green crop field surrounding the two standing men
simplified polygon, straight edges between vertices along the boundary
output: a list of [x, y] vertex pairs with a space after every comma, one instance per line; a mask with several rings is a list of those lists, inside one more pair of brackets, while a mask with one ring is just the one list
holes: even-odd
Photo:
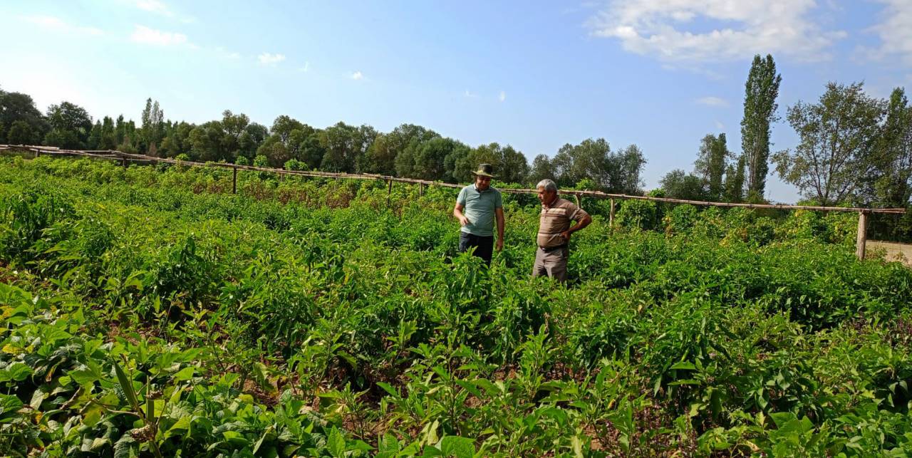
[[0, 159], [0, 455], [912, 453], [912, 270], [855, 214], [585, 199], [558, 286], [534, 196], [490, 269], [454, 197]]

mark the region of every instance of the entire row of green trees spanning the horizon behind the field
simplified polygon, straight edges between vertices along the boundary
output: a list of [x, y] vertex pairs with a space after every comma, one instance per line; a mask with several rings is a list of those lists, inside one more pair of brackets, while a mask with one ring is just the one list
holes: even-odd
[[[753, 58], [745, 83], [741, 152], [726, 134], [700, 141], [692, 172], [674, 170], [660, 180], [668, 197], [717, 202], [764, 202], [770, 167], [810, 202], [906, 207], [912, 199], [912, 107], [904, 88], [888, 100], [865, 94], [862, 83], [829, 83], [817, 102], [799, 101], [786, 120], [799, 143], [771, 156], [771, 126], [780, 120], [776, 99], [782, 75], [772, 56]], [[554, 179], [563, 187], [584, 183], [609, 193], [642, 193], [646, 158], [637, 145], [613, 150], [605, 139], [567, 143], [553, 156], [529, 163], [522, 151], [496, 142], [470, 146], [434, 130], [402, 124], [389, 132], [345, 122], [319, 129], [289, 116], [272, 125], [225, 110], [202, 124], [166, 120], [147, 99], [140, 124], [63, 101], [41, 113], [30, 96], [0, 89], [0, 143], [67, 149], [143, 152], [192, 161], [226, 161], [288, 170], [379, 173], [442, 182], [468, 182], [482, 162], [503, 182]]]

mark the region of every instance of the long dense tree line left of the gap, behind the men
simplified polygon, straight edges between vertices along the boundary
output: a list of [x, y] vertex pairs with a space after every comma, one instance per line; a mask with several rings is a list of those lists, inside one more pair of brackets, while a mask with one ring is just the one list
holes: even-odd
[[244, 113], [196, 125], [166, 120], [146, 100], [140, 125], [64, 101], [41, 113], [30, 96], [0, 90], [0, 143], [43, 144], [66, 149], [118, 150], [188, 161], [225, 161], [286, 170], [379, 173], [442, 182], [468, 182], [479, 163], [491, 163], [503, 182], [523, 185], [551, 178], [564, 186], [588, 180], [611, 193], [642, 193], [646, 159], [637, 147], [613, 151], [605, 139], [565, 144], [553, 158], [530, 165], [522, 151], [492, 142], [469, 146], [434, 130], [402, 124], [389, 132], [338, 122], [324, 129], [281, 115], [266, 127]]

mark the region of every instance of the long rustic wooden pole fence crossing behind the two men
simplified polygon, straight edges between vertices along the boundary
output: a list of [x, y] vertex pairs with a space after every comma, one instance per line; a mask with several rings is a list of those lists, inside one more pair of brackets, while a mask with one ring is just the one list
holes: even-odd
[[[253, 165], [237, 165], [229, 164], [222, 162], [195, 162], [195, 161], [179, 161], [176, 159], [170, 158], [159, 158], [155, 156], [147, 156], [144, 154], [134, 154], [123, 151], [112, 151], [112, 150], [65, 150], [56, 147], [50, 146], [33, 146], [33, 145], [3, 145], [0, 144], [0, 151], [29, 151], [34, 154], [34, 157], [38, 157], [42, 154], [45, 155], [55, 155], [55, 156], [64, 156], [64, 157], [89, 157], [104, 159], [109, 161], [119, 161], [124, 167], [128, 166], [130, 162], [135, 163], [170, 163], [175, 165], [183, 165], [188, 167], [203, 167], [203, 168], [219, 168], [219, 169], [230, 169], [232, 171], [232, 193], [237, 193], [237, 172], [238, 171], [254, 171], [254, 172], [270, 172], [275, 173], [281, 179], [283, 175], [297, 175], [297, 176], [306, 176], [306, 177], [317, 177], [317, 178], [333, 178], [333, 179], [349, 179], [349, 180], [383, 180], [388, 183], [387, 186], [387, 200], [389, 203], [389, 195], [392, 193], [392, 184], [393, 182], [405, 182], [410, 184], [419, 185], [419, 194], [422, 194], [425, 186], [440, 186], [444, 188], [453, 188], [461, 189], [461, 184], [452, 184], [446, 182], [432, 182], [430, 180], [416, 180], [412, 178], [401, 178], [389, 175], [378, 175], [371, 173], [334, 173], [334, 172], [307, 172], [307, 171], [286, 171], [283, 169], [275, 169], [268, 167], [256, 167]], [[534, 189], [500, 189], [501, 193], [513, 193], [513, 194], [534, 194], [538, 193]], [[609, 199], [610, 211], [608, 213], [608, 224], [613, 226], [615, 219], [615, 201], [616, 200], [642, 200], [642, 201], [651, 201], [651, 202], [664, 202], [664, 203], [688, 203], [690, 205], [697, 206], [714, 206], [714, 207], [741, 207], [741, 208], [764, 208], [764, 209], [778, 209], [778, 210], [811, 210], [818, 212], [855, 212], [858, 213], [858, 232], [855, 240], [855, 255], [859, 259], [865, 258], [865, 244], [867, 241], [867, 217], [871, 213], [893, 213], [901, 214], [906, 213], [905, 208], [857, 208], [857, 207], [827, 207], [827, 206], [817, 206], [817, 205], [783, 205], [775, 203], [722, 203], [722, 202], [705, 202], [705, 201], [689, 201], [684, 199], [669, 199], [667, 197], [649, 197], [644, 195], [627, 195], [627, 194], [614, 194], [614, 193], [602, 193], [600, 191], [561, 191], [565, 195], [573, 195], [576, 199], [576, 203], [579, 203], [579, 198], [582, 197], [594, 197], [596, 199]]]

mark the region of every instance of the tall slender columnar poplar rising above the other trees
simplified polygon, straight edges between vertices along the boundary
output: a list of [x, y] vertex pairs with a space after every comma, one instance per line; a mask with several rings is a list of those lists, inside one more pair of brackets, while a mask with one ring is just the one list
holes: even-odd
[[772, 56], [753, 57], [751, 71], [744, 85], [744, 117], [741, 119], [741, 151], [747, 161], [747, 187], [750, 192], [763, 195], [766, 175], [770, 171], [770, 124], [776, 120], [779, 105], [779, 83], [782, 75], [776, 73]]

